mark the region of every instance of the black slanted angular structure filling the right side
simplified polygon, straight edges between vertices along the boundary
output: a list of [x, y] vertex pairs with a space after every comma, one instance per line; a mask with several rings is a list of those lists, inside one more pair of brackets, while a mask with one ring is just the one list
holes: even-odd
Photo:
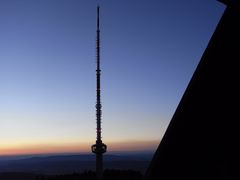
[[146, 172], [148, 180], [240, 179], [240, 1], [225, 12]]

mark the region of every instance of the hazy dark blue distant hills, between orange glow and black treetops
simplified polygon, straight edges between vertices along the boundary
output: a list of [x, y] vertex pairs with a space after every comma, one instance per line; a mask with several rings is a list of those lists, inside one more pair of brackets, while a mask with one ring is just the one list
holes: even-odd
[[[132, 169], [142, 173], [147, 169], [150, 155], [106, 155], [104, 167], [108, 169]], [[95, 170], [94, 155], [59, 155], [30, 157], [17, 160], [0, 160], [0, 172], [29, 172], [37, 174], [70, 174]]]

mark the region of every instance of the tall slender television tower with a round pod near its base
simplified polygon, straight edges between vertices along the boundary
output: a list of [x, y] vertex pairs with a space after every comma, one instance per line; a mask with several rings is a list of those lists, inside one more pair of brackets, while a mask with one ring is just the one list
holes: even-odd
[[97, 40], [96, 40], [96, 50], [97, 50], [97, 102], [96, 102], [96, 120], [97, 120], [97, 140], [96, 144], [92, 145], [92, 152], [96, 154], [96, 176], [97, 179], [101, 179], [103, 175], [103, 153], [106, 152], [107, 146], [102, 142], [101, 137], [101, 115], [102, 115], [102, 105], [101, 105], [101, 88], [100, 88], [100, 29], [99, 29], [99, 9], [97, 6]]

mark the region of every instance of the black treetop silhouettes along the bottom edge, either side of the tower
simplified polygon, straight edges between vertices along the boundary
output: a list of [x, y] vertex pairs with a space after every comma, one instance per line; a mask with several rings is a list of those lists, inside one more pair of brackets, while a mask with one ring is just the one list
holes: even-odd
[[[39, 175], [31, 173], [0, 173], [1, 180], [95, 180], [96, 174], [93, 171], [73, 173], [64, 175]], [[135, 170], [106, 169], [103, 173], [103, 180], [142, 180], [143, 175]]]

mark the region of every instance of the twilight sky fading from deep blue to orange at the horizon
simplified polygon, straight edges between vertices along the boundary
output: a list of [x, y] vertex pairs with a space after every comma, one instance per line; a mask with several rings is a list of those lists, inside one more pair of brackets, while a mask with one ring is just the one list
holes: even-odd
[[0, 155], [90, 151], [97, 4], [109, 151], [156, 149], [225, 8], [216, 0], [0, 0]]

